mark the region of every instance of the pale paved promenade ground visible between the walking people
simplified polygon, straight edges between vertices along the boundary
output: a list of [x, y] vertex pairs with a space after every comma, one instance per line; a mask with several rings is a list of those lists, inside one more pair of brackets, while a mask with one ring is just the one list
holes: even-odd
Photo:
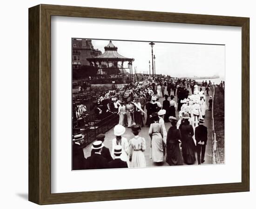
[[[204, 87], [203, 87], [203, 89], [204, 89]], [[190, 91], [190, 94], [191, 94], [191, 89], [189, 89], [189, 91]], [[172, 94], [173, 94], [173, 92], [172, 92]], [[206, 92], [205, 92], [205, 94], [206, 94]], [[209, 91], [209, 96], [211, 96], [211, 95], [212, 95], [212, 92]], [[206, 97], [206, 104], [207, 105], [209, 105], [209, 103], [208, 103], [209, 96]], [[170, 99], [170, 98], [168, 98], [168, 99]], [[159, 100], [160, 100], [160, 102], [162, 104], [162, 101], [164, 100], [164, 98], [160, 98]], [[175, 97], [175, 101], [177, 102], [177, 97]], [[178, 115], [179, 115], [179, 113], [178, 113], [178, 111], [176, 111], [176, 117], [178, 117]], [[205, 118], [204, 118], [205, 119], [204, 125], [207, 126], [207, 128], [208, 128], [208, 141], [207, 141], [206, 151], [205, 151], [205, 162], [203, 164], [212, 164], [212, 136], [211, 136], [212, 126], [211, 126], [211, 118], [212, 118], [211, 117], [211, 111], [207, 110]], [[144, 124], [145, 124], [145, 121], [144, 121]], [[168, 131], [170, 126], [171, 126], [170, 123], [165, 123], [166, 131]], [[107, 133], [105, 133], [106, 137], [105, 137], [104, 144], [105, 144], [106, 147], [109, 148], [110, 152], [111, 152], [111, 149], [112, 149], [112, 139], [115, 138], [114, 130], [113, 129], [114, 128], [112, 128]], [[144, 155], [145, 155], [145, 158], [146, 158], [146, 165], [147, 165], [147, 167], [168, 166], [168, 163], [166, 163], [166, 162], [164, 162], [162, 165], [155, 164], [155, 163], [153, 163], [152, 159], [149, 158], [149, 155], [150, 155], [150, 137], [148, 136], [148, 130], [149, 130], [148, 127], [143, 127], [141, 129], [141, 132], [140, 132], [140, 136], [144, 137], [146, 139], [146, 147], [147, 148], [144, 151]], [[123, 137], [126, 137], [128, 141], [134, 137], [134, 135], [131, 132], [130, 128], [126, 127], [126, 132], [124, 133]], [[91, 145], [92, 144], [88, 145], [83, 150], [84, 151], [84, 156], [86, 158], [90, 156]], [[195, 157], [196, 157], [196, 153], [195, 153]], [[197, 164], [197, 160], [195, 162], [195, 165], [196, 164]], [[186, 164], [184, 164], [184, 165], [186, 165]]]

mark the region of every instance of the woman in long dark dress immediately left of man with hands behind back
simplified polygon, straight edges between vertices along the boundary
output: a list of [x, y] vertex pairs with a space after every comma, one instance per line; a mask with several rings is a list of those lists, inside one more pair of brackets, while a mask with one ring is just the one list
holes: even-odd
[[193, 140], [194, 129], [189, 124], [189, 114], [185, 113], [183, 116], [183, 122], [179, 129], [182, 134], [182, 156], [184, 163], [192, 165], [195, 163], [195, 143]]

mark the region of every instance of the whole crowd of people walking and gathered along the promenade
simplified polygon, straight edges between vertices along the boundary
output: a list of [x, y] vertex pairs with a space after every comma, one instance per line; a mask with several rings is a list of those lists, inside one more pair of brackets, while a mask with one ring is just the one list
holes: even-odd
[[[108, 91], [98, 98], [95, 113], [98, 118], [109, 113], [119, 115], [112, 150], [104, 146], [105, 135], [100, 134], [92, 144], [91, 156], [86, 159], [83, 150], [79, 149], [83, 136], [75, 135], [73, 170], [146, 167], [146, 149], [150, 149], [150, 159], [157, 164], [164, 161], [169, 165], [194, 164], [195, 153], [198, 164], [204, 163], [208, 133], [203, 123], [206, 110], [212, 107], [211, 96], [209, 107], [206, 104], [210, 85], [210, 81], [199, 87], [195, 80], [156, 76], [126, 85], [118, 94]], [[165, 98], [162, 104], [161, 97]], [[168, 130], [165, 123], [171, 124]], [[146, 138], [140, 136], [143, 126], [149, 127]], [[129, 140], [123, 137], [126, 127], [134, 136]], [[146, 147], [146, 140], [150, 140], [150, 147]]]

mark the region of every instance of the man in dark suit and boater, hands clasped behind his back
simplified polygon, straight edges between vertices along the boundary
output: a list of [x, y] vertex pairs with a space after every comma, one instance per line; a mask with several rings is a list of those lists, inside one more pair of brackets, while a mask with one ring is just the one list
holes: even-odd
[[199, 165], [204, 163], [204, 154], [208, 135], [207, 127], [203, 125], [203, 122], [204, 119], [199, 118], [199, 125], [195, 128], [197, 161]]

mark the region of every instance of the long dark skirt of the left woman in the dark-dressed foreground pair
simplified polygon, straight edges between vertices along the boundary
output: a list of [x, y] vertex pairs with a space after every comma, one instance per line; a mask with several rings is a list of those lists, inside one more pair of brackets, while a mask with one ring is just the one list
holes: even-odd
[[168, 144], [166, 162], [169, 165], [183, 165], [179, 143]]

